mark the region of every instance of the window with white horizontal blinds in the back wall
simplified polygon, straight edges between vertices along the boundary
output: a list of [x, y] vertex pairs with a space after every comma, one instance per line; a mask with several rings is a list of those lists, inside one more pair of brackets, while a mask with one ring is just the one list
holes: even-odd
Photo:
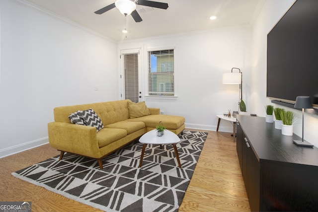
[[173, 49], [148, 52], [148, 93], [174, 96]]

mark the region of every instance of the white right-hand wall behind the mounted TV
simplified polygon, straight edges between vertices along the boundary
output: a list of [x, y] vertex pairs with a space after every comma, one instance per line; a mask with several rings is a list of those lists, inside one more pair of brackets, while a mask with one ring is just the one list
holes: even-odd
[[[264, 106], [272, 104], [266, 98], [266, 51], [267, 33], [291, 7], [295, 0], [266, 0], [252, 28], [252, 65], [251, 65], [251, 108], [260, 116], [265, 116]], [[294, 133], [302, 137], [302, 113], [292, 108], [272, 104], [296, 112], [297, 121]], [[318, 116], [305, 113], [304, 139], [318, 147]]]

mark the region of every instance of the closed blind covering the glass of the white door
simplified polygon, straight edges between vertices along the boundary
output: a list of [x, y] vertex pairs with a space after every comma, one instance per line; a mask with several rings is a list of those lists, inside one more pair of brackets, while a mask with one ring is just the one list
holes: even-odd
[[124, 54], [125, 99], [139, 101], [138, 87], [138, 53]]

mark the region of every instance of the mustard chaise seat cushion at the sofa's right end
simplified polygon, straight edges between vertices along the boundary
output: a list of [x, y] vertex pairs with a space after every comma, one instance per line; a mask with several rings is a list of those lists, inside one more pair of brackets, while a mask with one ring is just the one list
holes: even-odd
[[162, 122], [162, 125], [166, 129], [178, 129], [181, 125], [184, 124], [185, 119], [182, 116], [172, 116], [172, 115], [149, 115], [144, 117], [139, 117], [135, 119], [128, 119], [130, 122], [144, 122], [146, 127], [156, 128], [159, 125], [159, 122]]

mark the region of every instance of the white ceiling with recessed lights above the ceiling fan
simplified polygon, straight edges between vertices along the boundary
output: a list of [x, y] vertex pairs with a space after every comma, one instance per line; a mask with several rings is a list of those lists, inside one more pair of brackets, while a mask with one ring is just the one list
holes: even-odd
[[[125, 16], [117, 8], [101, 15], [94, 13], [115, 0], [26, 1], [116, 41], [250, 24], [264, 3], [264, 0], [158, 0], [168, 3], [166, 10], [137, 5], [143, 21], [136, 23], [131, 15], [127, 16], [125, 38], [122, 33]], [[217, 19], [210, 20], [212, 15]]]

